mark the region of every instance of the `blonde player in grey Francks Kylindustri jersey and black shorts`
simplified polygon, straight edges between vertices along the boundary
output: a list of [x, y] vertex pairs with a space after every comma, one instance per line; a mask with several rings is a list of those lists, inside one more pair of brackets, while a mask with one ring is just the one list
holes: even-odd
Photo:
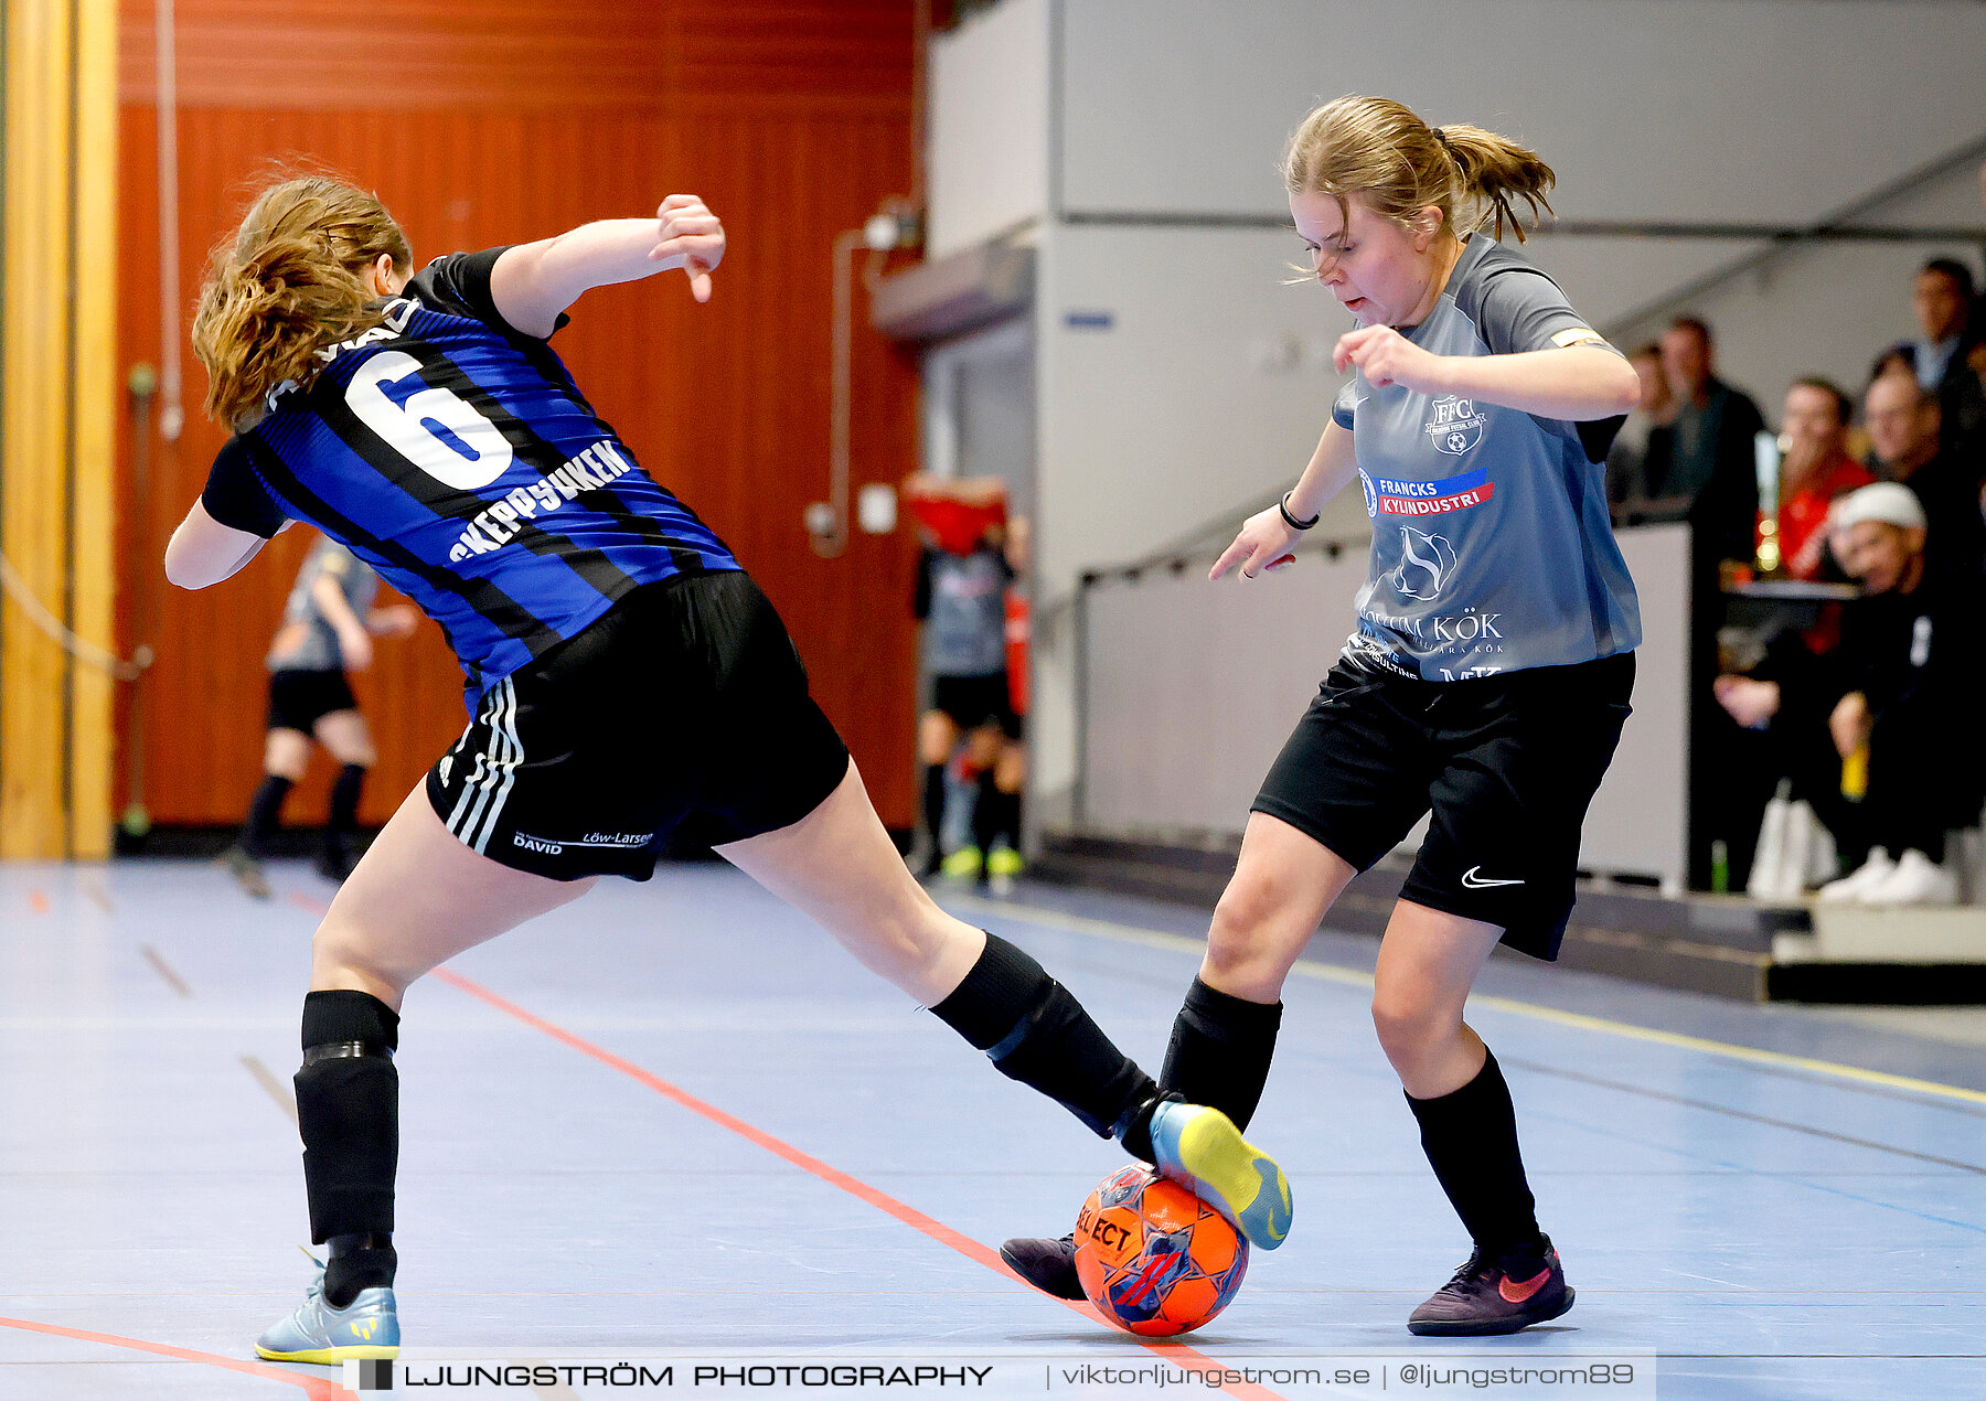
[[[1627, 718], [1634, 585], [1603, 460], [1636, 375], [1501, 234], [1551, 169], [1480, 127], [1341, 97], [1285, 159], [1311, 266], [1356, 329], [1354, 369], [1303, 478], [1209, 577], [1291, 562], [1358, 480], [1372, 568], [1358, 631], [1263, 782], [1162, 1083], [1245, 1125], [1269, 1074], [1291, 964], [1345, 885], [1432, 812], [1386, 927], [1372, 1020], [1476, 1250], [1414, 1310], [1416, 1334], [1507, 1334], [1573, 1304], [1539, 1230], [1495, 1058], [1462, 1020], [1497, 941], [1553, 958], [1579, 828]], [[1521, 228], [1517, 230], [1521, 238]], [[1068, 1296], [1070, 1242], [1003, 1254]]]

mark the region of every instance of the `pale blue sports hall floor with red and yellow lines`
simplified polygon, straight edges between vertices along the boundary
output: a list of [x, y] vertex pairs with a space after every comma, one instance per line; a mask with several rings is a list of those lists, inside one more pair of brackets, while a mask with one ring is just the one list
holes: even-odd
[[[250, 1347], [312, 1272], [288, 1082], [330, 895], [300, 865], [272, 877], [254, 903], [193, 861], [0, 867], [0, 1397], [357, 1385]], [[1200, 915], [943, 899], [1156, 1070]], [[1416, 1339], [1408, 1310], [1468, 1248], [1370, 1030], [1374, 951], [1321, 935], [1287, 990], [1251, 1137], [1289, 1167], [1289, 1244], [1206, 1330], [1148, 1345], [993, 1254], [1068, 1230], [1114, 1145], [729, 867], [604, 883], [409, 994], [397, 1389], [1986, 1395], [1982, 1014], [1493, 962], [1470, 1020], [1579, 1304]], [[1632, 1371], [1569, 1381], [1601, 1363]]]

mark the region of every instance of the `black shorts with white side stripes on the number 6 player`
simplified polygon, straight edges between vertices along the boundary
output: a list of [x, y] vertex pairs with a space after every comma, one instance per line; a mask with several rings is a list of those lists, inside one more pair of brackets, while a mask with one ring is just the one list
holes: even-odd
[[846, 774], [784, 623], [725, 570], [643, 585], [491, 687], [427, 798], [502, 865], [645, 881], [677, 829], [707, 845], [777, 831]]

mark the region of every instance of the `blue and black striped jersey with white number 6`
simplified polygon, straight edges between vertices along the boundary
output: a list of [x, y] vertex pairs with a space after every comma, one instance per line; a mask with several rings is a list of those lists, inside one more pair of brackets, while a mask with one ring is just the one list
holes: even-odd
[[272, 536], [294, 518], [344, 542], [441, 623], [471, 712], [630, 589], [739, 568], [558, 355], [504, 323], [500, 252], [431, 262], [383, 325], [318, 351], [310, 387], [278, 389], [203, 492], [224, 526]]

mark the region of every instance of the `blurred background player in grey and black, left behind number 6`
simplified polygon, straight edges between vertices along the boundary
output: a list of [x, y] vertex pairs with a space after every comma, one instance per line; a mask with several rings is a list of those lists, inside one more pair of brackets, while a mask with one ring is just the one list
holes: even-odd
[[371, 728], [359, 714], [348, 671], [371, 667], [373, 637], [409, 637], [421, 615], [405, 605], [373, 607], [379, 575], [371, 566], [324, 536], [304, 556], [284, 601], [282, 627], [268, 647], [268, 720], [262, 740], [262, 782], [248, 804], [240, 835], [220, 853], [244, 891], [268, 899], [262, 861], [282, 822], [282, 802], [304, 780], [316, 740], [338, 760], [332, 810], [318, 847], [318, 873], [332, 881], [352, 875], [365, 770], [379, 762]]

